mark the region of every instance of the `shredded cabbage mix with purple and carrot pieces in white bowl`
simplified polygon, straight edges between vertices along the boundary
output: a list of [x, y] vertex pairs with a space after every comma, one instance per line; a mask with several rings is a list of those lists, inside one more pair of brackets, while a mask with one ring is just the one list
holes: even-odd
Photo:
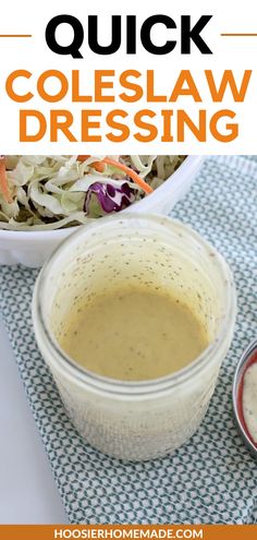
[[[185, 156], [7, 156], [7, 181], [12, 201], [0, 189], [0, 228], [53, 230], [119, 212], [145, 196], [119, 167], [94, 165], [109, 157], [136, 171], [154, 190], [182, 164]], [[124, 188], [125, 187], [125, 188]], [[124, 188], [124, 190], [123, 190]], [[124, 191], [124, 193], [123, 193]], [[105, 200], [108, 204], [105, 204]]]

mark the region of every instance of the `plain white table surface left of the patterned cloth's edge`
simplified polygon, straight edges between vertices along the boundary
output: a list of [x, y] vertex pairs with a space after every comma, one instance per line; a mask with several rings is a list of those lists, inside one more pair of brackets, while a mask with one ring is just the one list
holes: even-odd
[[0, 320], [0, 524], [68, 524]]

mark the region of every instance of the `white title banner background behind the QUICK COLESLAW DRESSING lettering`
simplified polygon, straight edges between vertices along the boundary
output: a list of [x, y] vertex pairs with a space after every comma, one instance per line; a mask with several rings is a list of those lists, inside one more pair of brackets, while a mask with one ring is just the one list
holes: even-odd
[[[61, 57], [53, 53], [45, 41], [45, 29], [49, 20], [61, 13], [77, 16], [84, 25], [85, 45], [82, 47], [84, 59], [72, 59], [71, 57]], [[140, 23], [149, 15], [164, 13], [174, 19], [180, 27], [181, 14], [191, 14], [193, 22], [196, 22], [201, 14], [212, 14], [213, 17], [207, 24], [203, 32], [203, 38], [213, 51], [212, 56], [201, 55], [193, 45], [192, 55], [181, 56], [180, 53], [180, 29], [166, 31], [162, 25], [157, 25], [152, 32], [152, 39], [157, 44], [163, 44], [166, 38], [179, 39], [178, 46], [173, 52], [167, 56], [157, 57], [146, 52], [139, 44], [137, 55], [125, 55], [125, 39], [121, 49], [112, 56], [102, 57], [93, 53], [87, 46], [87, 15], [99, 15], [100, 41], [108, 44], [110, 40], [110, 15], [136, 14], [138, 24], [138, 34]], [[125, 22], [125, 20], [123, 20]], [[124, 31], [124, 27], [123, 27]], [[1, 73], [0, 73], [0, 141], [2, 154], [120, 154], [120, 153], [147, 153], [147, 154], [242, 154], [256, 153], [256, 125], [257, 125], [257, 107], [255, 106], [257, 96], [257, 37], [225, 38], [220, 34], [224, 32], [257, 32], [256, 2], [245, 0], [244, 2], [234, 2], [225, 0], [224, 2], [213, 1], [180, 1], [170, 2], [170, 0], [159, 0], [158, 2], [121, 2], [109, 0], [108, 3], [102, 0], [95, 0], [90, 3], [82, 1], [70, 2], [68, 0], [56, 0], [54, 2], [35, 2], [24, 0], [23, 2], [10, 0], [1, 10], [0, 33], [25, 33], [33, 34], [33, 38], [27, 39], [0, 39], [1, 55]], [[123, 33], [124, 35], [124, 33]], [[71, 39], [71, 29], [66, 26], [60, 32], [61, 39], [66, 43]], [[137, 36], [138, 37], [138, 36]], [[124, 35], [125, 38], [125, 35]], [[195, 104], [192, 97], [180, 98], [178, 104], [171, 104], [172, 108], [185, 108], [193, 120], [196, 120], [198, 108], [207, 108], [208, 118], [213, 111], [220, 108], [231, 108], [236, 111], [236, 121], [240, 123], [240, 136], [232, 143], [218, 143], [212, 136], [207, 137], [206, 143], [198, 143], [194, 136], [187, 135], [184, 144], [173, 143], [138, 143], [131, 137], [122, 144], [115, 144], [105, 141], [101, 143], [70, 143], [63, 136], [60, 136], [59, 143], [49, 143], [49, 129], [42, 141], [38, 143], [19, 144], [19, 109], [21, 104], [15, 104], [5, 95], [5, 80], [8, 75], [16, 69], [26, 69], [33, 72], [32, 80], [26, 83], [29, 91], [35, 92], [38, 75], [45, 70], [58, 69], [63, 71], [70, 80], [72, 70], [82, 72], [82, 91], [90, 92], [93, 85], [93, 75], [95, 69], [115, 69], [121, 72], [125, 69], [137, 69], [144, 72], [146, 69], [156, 70], [157, 91], [164, 93], [172, 91], [173, 84], [181, 69], [189, 69], [195, 76], [196, 84], [200, 91], [204, 103]], [[245, 69], [252, 69], [253, 75], [249, 88], [246, 95], [245, 104], [234, 104], [231, 93], [225, 94], [223, 104], [211, 104], [208, 86], [205, 82], [204, 70], [212, 69], [217, 84], [220, 82], [224, 69], [234, 70], [236, 81], [240, 83]], [[24, 83], [21, 85], [24, 88]], [[100, 107], [99, 107], [100, 105]], [[167, 104], [162, 104], [166, 106]], [[132, 132], [138, 131], [133, 128], [132, 117], [135, 110], [146, 106], [144, 101], [134, 104], [91, 104], [93, 108], [102, 108], [105, 111], [121, 106], [126, 108], [131, 117], [127, 124]], [[23, 105], [22, 105], [23, 107]], [[74, 125], [72, 130], [79, 140], [81, 132], [81, 109], [85, 104], [71, 103], [71, 92], [61, 103], [49, 104], [35, 97], [32, 101], [25, 104], [25, 108], [41, 110], [48, 121], [49, 128], [49, 108], [70, 109], [74, 113]], [[86, 104], [86, 108], [90, 108]], [[149, 107], [149, 106], [148, 106]], [[149, 108], [155, 107], [150, 104]], [[169, 107], [169, 104], [167, 105]], [[159, 107], [160, 108], [160, 107]], [[158, 107], [156, 108], [158, 111]], [[158, 123], [158, 121], [157, 121]], [[105, 134], [110, 129], [106, 128], [105, 115], [101, 123], [101, 132]], [[207, 130], [208, 131], [208, 130]], [[174, 133], [175, 140], [175, 133]], [[86, 148], [85, 148], [86, 146]]]

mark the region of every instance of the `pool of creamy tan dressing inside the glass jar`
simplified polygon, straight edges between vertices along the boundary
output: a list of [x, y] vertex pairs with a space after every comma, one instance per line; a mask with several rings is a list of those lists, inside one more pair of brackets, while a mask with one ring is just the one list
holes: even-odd
[[66, 319], [59, 343], [84, 368], [120, 381], [147, 381], [192, 362], [209, 340], [197, 315], [159, 287], [128, 283], [98, 293]]

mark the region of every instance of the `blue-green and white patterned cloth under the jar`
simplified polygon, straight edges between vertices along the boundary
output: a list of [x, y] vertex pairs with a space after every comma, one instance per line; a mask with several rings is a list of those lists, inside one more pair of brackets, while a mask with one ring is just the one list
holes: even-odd
[[257, 523], [257, 464], [236, 433], [231, 403], [235, 364], [257, 335], [256, 190], [256, 163], [208, 158], [173, 212], [227, 257], [238, 291], [238, 316], [203, 424], [186, 445], [162, 459], [125, 465], [82, 441], [35, 343], [30, 300], [37, 271], [0, 268], [0, 311], [71, 523]]

